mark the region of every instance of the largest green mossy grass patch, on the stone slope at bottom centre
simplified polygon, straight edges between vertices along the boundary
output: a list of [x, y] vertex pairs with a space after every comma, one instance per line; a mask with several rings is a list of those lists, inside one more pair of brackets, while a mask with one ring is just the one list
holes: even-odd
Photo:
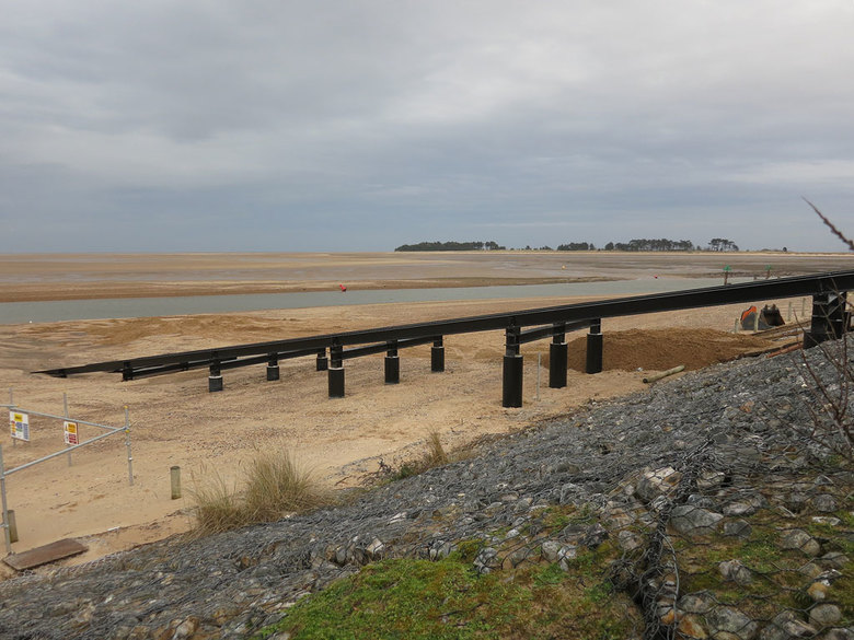
[[591, 552], [577, 571], [530, 565], [478, 575], [454, 556], [386, 560], [301, 601], [255, 638], [281, 630], [299, 640], [625, 638], [643, 622], [602, 579], [608, 561]]

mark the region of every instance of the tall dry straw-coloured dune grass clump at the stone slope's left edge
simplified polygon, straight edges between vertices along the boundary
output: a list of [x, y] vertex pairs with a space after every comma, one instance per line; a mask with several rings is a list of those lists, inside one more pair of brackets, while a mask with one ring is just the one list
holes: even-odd
[[288, 450], [258, 452], [245, 473], [245, 486], [229, 487], [217, 473], [196, 482], [189, 492], [196, 516], [194, 532], [208, 535], [241, 526], [273, 522], [333, 502], [311, 469]]

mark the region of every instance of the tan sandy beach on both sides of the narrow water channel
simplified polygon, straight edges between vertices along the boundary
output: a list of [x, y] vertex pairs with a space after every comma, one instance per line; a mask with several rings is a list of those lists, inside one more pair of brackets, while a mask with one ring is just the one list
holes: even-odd
[[[158, 295], [164, 291], [171, 295], [243, 293], [253, 287], [320, 290], [342, 281], [351, 288], [409, 288], [512, 279], [706, 276], [717, 272], [723, 259], [605, 257], [553, 253], [4, 255], [0, 256], [0, 300], [140, 296], [154, 289]], [[768, 255], [726, 259], [735, 270], [754, 275], [771, 261]], [[845, 269], [851, 260], [849, 255], [773, 257], [780, 274]], [[218, 394], [208, 393], [205, 371], [129, 382], [115, 374], [61, 380], [31, 373], [128, 356], [567, 302], [572, 300], [455, 301], [0, 325], [0, 402], [9, 402], [7, 389], [12, 389], [19, 407], [59, 416], [65, 394], [72, 418], [122, 427], [127, 406], [131, 427], [132, 486], [124, 434], [73, 451], [70, 463], [69, 456], [61, 455], [8, 478], [9, 508], [15, 511], [21, 538], [13, 550], [73, 537], [90, 550], [66, 562], [81, 562], [187, 531], [194, 482], [218, 475], [239, 485], [247, 461], [261, 450], [290, 450], [330, 486], [357, 486], [377, 472], [380, 461], [395, 465], [417, 454], [430, 431], [452, 449], [485, 434], [523, 429], [586, 403], [642, 391], [648, 387], [643, 377], [650, 372], [678, 364], [697, 369], [773, 347], [761, 337], [732, 333], [743, 305], [605, 321], [605, 371], [584, 374], [584, 334], [568, 335], [570, 370], [563, 389], [547, 387], [547, 340], [523, 347], [524, 404], [519, 409], [500, 406], [501, 331], [446, 338], [445, 373], [430, 373], [429, 347], [403, 351], [399, 385], [383, 384], [382, 356], [348, 361], [347, 397], [342, 399], [327, 397], [326, 375], [314, 371], [312, 358], [281, 362], [277, 382], [265, 381], [263, 365], [227, 371], [224, 391]], [[789, 302], [777, 302], [787, 315]], [[790, 309], [799, 315], [809, 306], [797, 299]], [[83, 439], [99, 432], [81, 427]], [[31, 442], [21, 443], [7, 431], [0, 441], [7, 469], [64, 450], [61, 420], [33, 417], [31, 433]], [[170, 494], [170, 468], [175, 465], [182, 469], [185, 488], [178, 500]]]

